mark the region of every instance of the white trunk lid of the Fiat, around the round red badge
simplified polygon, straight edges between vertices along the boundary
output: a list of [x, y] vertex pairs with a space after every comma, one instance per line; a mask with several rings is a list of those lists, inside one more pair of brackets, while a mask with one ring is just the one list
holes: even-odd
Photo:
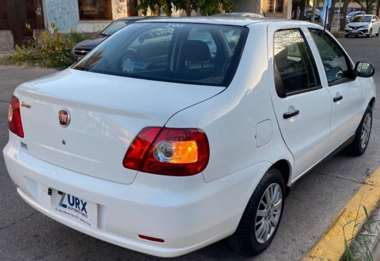
[[[20, 108], [22, 142], [28, 154], [86, 175], [130, 184], [137, 171], [125, 169], [122, 161], [139, 131], [162, 127], [177, 111], [223, 89], [67, 69], [24, 83], [14, 94], [20, 103], [30, 105]], [[71, 115], [67, 127], [57, 119], [63, 109]]]

